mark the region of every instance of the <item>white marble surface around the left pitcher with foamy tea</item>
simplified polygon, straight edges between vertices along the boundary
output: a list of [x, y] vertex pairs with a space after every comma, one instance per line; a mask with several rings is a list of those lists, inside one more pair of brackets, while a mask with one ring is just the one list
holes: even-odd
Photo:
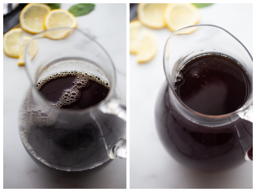
[[[68, 10], [72, 4], [61, 4]], [[89, 33], [109, 53], [117, 69], [117, 84], [126, 98], [126, 4], [96, 4], [88, 15], [77, 17], [77, 28]], [[23, 32], [22, 36], [32, 36]], [[78, 179], [61, 178], [42, 170], [20, 141], [17, 114], [29, 86], [24, 67], [3, 54], [4, 68], [4, 188], [126, 188], [126, 160], [114, 160], [102, 171]]]

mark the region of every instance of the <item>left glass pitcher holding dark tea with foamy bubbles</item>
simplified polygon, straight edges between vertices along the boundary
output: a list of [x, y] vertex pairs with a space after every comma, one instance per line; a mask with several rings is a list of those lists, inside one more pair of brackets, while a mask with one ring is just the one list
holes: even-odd
[[[38, 47], [34, 57], [32, 43]], [[18, 127], [36, 164], [80, 177], [126, 158], [126, 104], [100, 44], [79, 29], [46, 30], [28, 42], [25, 66], [31, 86], [20, 103]]]

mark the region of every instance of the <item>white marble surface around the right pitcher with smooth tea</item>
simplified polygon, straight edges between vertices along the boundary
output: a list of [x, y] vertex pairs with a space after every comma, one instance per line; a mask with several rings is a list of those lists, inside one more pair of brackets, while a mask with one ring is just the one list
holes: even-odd
[[[252, 4], [213, 4], [200, 8], [199, 24], [220, 26], [252, 54]], [[205, 174], [188, 170], [164, 149], [156, 132], [156, 96], [165, 80], [163, 50], [168, 29], [154, 30], [156, 57], [138, 64], [130, 55], [130, 188], [252, 188], [252, 162], [236, 169]]]

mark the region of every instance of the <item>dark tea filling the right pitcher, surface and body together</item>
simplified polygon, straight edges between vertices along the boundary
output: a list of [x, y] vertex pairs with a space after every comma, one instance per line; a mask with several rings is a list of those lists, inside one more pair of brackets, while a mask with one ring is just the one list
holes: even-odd
[[238, 118], [218, 126], [188, 120], [173, 97], [204, 115], [224, 115], [239, 109], [251, 92], [244, 68], [232, 58], [204, 54], [180, 69], [172, 92], [165, 82], [157, 98], [156, 126], [167, 151], [181, 164], [200, 171], [220, 171], [244, 162], [237, 129], [252, 134], [252, 123]]

